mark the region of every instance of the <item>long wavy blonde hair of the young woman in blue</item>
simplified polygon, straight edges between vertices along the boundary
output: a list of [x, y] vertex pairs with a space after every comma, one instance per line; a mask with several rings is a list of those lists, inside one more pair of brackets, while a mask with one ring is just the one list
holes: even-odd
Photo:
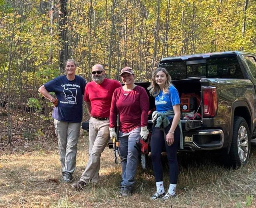
[[166, 80], [165, 80], [165, 84], [164, 84], [164, 88], [163, 88], [163, 94], [166, 94], [169, 92], [169, 87], [172, 85], [172, 78], [169, 75], [169, 73], [167, 72], [167, 70], [163, 67], [158, 67], [152, 76], [152, 80], [151, 80], [151, 84], [148, 87], [149, 93], [156, 97], [158, 96], [158, 94], [160, 93], [160, 86], [156, 83], [156, 75], [158, 72], [162, 71], [163, 73], [165, 73], [166, 75]]

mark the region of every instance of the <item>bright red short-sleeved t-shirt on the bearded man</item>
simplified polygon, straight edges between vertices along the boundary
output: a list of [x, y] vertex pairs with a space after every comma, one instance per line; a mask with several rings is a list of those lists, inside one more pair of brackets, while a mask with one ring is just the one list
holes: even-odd
[[104, 78], [101, 84], [97, 84], [94, 81], [86, 84], [84, 100], [91, 102], [91, 116], [109, 117], [113, 92], [120, 86], [122, 86], [120, 82], [107, 78]]

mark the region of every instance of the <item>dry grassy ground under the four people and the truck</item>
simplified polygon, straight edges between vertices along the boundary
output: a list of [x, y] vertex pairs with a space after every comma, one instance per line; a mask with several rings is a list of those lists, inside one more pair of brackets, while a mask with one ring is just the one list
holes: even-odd
[[[256, 207], [254, 146], [248, 165], [237, 170], [217, 165], [210, 153], [180, 154], [178, 197], [166, 202], [150, 200], [155, 191], [150, 169], [146, 173], [138, 169], [134, 194], [120, 198], [121, 165], [114, 163], [113, 151], [108, 148], [102, 153], [100, 186], [89, 185], [80, 192], [61, 182], [56, 141], [30, 141], [26, 147], [5, 148], [0, 153], [0, 207]], [[74, 181], [79, 180], [87, 160], [85, 135], [78, 143]], [[166, 170], [164, 184], [168, 188]]]

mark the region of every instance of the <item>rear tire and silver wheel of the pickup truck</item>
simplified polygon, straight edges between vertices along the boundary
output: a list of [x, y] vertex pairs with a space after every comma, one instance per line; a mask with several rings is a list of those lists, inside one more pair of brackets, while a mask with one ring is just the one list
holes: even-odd
[[232, 143], [228, 154], [230, 166], [240, 167], [248, 162], [251, 149], [250, 138], [246, 120], [241, 116], [235, 116]]

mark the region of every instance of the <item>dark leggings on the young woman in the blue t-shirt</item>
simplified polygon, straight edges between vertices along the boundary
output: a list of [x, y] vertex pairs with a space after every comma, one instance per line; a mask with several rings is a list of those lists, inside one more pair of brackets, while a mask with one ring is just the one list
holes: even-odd
[[[167, 134], [172, 125], [172, 119], [170, 124], [164, 128], [165, 133]], [[178, 181], [178, 161], [177, 161], [177, 150], [180, 143], [180, 129], [177, 126], [174, 131], [174, 142], [172, 145], [168, 146], [164, 138], [163, 128], [155, 127], [151, 136], [151, 158], [153, 163], [153, 171], [156, 182], [163, 181], [163, 168], [161, 163], [161, 153], [165, 146], [168, 166], [169, 166], [169, 178], [170, 183], [177, 184]]]

